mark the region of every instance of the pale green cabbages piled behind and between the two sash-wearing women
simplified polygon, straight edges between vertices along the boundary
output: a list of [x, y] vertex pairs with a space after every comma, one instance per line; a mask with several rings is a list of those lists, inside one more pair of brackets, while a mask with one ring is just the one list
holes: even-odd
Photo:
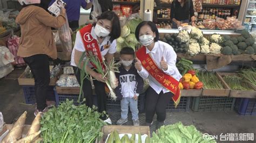
[[139, 42], [134, 33], [140, 22], [142, 22], [142, 19], [140, 18], [131, 18], [122, 27], [121, 35], [117, 39], [117, 52], [120, 52], [123, 47], [131, 47], [135, 51], [139, 46]]

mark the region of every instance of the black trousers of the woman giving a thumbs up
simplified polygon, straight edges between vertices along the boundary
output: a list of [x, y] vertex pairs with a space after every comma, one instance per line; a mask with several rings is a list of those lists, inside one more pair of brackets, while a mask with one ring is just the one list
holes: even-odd
[[169, 104], [173, 94], [171, 92], [157, 94], [153, 88], [149, 87], [146, 92], [146, 123], [152, 123], [154, 113], [157, 113], [157, 120], [163, 122], [166, 118], [166, 106]]

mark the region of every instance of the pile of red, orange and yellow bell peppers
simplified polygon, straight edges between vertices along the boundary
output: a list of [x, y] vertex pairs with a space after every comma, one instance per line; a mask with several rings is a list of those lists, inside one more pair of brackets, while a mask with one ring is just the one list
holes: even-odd
[[193, 69], [188, 70], [179, 83], [180, 89], [202, 89], [203, 86], [203, 82], [200, 82], [196, 75], [196, 70]]

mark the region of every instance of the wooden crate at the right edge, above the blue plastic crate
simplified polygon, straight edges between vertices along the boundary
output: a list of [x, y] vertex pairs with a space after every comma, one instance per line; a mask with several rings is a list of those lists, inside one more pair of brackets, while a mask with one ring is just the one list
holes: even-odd
[[[225, 75], [235, 75], [235, 73], [217, 73], [221, 78], [223, 78], [223, 76]], [[223, 80], [224, 81], [224, 80]], [[225, 82], [225, 81], [224, 81]], [[225, 82], [226, 83], [226, 82]], [[227, 83], [226, 83], [227, 84]], [[252, 85], [249, 84], [250, 87], [254, 90], [254, 91], [246, 91], [246, 90], [232, 90], [229, 85], [228, 88], [231, 89], [230, 91], [230, 97], [236, 97], [236, 98], [256, 98], [256, 88]]]

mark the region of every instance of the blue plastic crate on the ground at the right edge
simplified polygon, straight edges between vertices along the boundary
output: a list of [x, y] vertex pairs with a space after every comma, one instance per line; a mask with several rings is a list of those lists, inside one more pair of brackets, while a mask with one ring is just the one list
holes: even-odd
[[237, 98], [235, 101], [235, 111], [240, 115], [256, 115], [256, 99]]

